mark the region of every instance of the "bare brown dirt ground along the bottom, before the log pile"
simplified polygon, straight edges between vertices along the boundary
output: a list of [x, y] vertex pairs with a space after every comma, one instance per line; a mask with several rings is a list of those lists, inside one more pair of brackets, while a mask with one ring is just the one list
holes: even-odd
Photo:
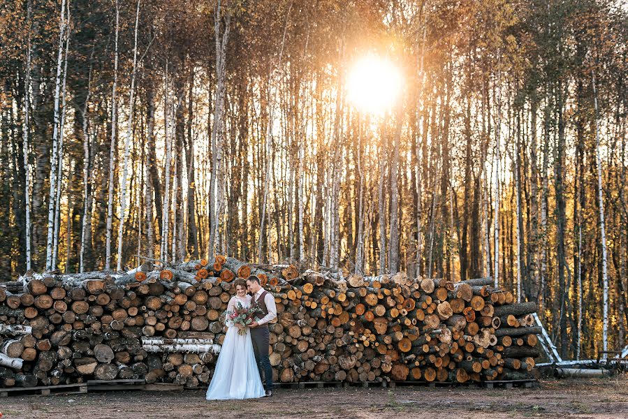
[[[2, 418], [608, 418], [628, 419], [628, 376], [542, 381], [537, 388], [276, 390], [270, 399], [206, 402], [205, 392], [116, 391], [0, 399]], [[425, 415], [425, 416], [424, 416]]]

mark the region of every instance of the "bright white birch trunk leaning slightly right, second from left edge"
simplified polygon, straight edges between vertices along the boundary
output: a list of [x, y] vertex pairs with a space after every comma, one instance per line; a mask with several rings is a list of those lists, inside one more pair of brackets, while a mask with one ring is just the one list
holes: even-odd
[[[54, 80], [54, 122], [52, 128], [52, 156], [50, 158], [50, 194], [48, 199], [48, 242], [46, 244], [46, 270], [52, 270], [52, 243], [54, 235], [54, 205], [57, 188], [57, 154], [59, 141], [59, 96], [61, 94], [61, 65], [63, 61], [64, 34], [66, 32], [66, 0], [61, 0], [59, 20], [59, 47], [57, 51], [57, 77]], [[62, 134], [61, 134], [62, 135]]]

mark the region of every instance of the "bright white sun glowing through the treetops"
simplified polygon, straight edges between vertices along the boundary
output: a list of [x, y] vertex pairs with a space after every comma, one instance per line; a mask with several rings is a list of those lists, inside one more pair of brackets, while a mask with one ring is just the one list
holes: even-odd
[[383, 115], [397, 101], [402, 87], [400, 71], [390, 61], [367, 55], [356, 61], [346, 82], [347, 98], [356, 108]]

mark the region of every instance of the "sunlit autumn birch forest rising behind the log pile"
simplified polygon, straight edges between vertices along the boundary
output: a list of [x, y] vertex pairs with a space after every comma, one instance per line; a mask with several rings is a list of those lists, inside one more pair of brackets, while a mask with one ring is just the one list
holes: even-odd
[[[0, 0], [0, 278], [221, 254], [492, 277], [627, 344], [628, 6]], [[351, 101], [363, 57], [400, 74]]]

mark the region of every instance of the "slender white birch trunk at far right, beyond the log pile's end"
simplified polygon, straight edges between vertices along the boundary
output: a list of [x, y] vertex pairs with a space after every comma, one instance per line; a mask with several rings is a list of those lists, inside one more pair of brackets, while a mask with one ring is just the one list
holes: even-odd
[[[597, 107], [597, 90], [595, 86], [595, 73], [591, 72], [593, 84], [593, 103], [595, 105], [595, 159], [597, 163], [597, 196], [599, 199], [599, 230], [602, 241], [602, 284], [604, 284], [603, 295], [603, 325], [602, 325], [602, 347], [603, 351], [608, 351], [608, 273], [606, 271], [606, 225], [604, 223], [604, 198], [602, 188], [602, 161], [600, 153], [599, 139], [599, 108]], [[604, 353], [602, 358], [606, 359]]]

